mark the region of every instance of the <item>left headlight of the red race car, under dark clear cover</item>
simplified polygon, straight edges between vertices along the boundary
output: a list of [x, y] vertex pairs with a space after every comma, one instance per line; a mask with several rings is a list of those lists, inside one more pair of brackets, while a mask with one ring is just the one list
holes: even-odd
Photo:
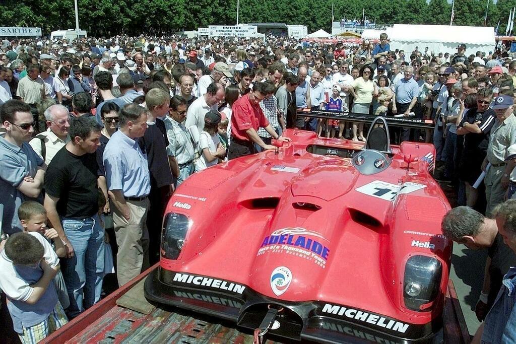
[[169, 212], [163, 221], [162, 256], [167, 259], [178, 259], [185, 243], [186, 232], [190, 221], [183, 214]]

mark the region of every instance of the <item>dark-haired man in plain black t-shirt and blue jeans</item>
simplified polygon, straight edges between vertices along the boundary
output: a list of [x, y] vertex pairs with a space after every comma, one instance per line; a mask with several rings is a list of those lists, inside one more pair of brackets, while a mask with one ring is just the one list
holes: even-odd
[[100, 300], [104, 279], [104, 228], [98, 215], [99, 165], [95, 154], [101, 129], [94, 118], [73, 119], [71, 140], [57, 152], [45, 175], [44, 207], [67, 248], [62, 271], [71, 318]]

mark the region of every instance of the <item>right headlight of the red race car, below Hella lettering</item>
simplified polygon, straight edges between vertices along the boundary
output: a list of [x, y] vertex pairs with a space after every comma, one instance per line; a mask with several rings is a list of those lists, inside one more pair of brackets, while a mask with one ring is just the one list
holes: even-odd
[[403, 297], [405, 306], [418, 312], [431, 309], [441, 285], [442, 265], [436, 258], [413, 256], [405, 265]]

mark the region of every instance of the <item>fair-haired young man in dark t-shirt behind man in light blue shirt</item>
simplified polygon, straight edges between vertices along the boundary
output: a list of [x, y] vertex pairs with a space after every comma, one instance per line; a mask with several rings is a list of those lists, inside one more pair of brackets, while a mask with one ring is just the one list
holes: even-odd
[[147, 92], [145, 103], [152, 118], [149, 117], [145, 135], [138, 139], [142, 151], [147, 152], [151, 175], [150, 208], [147, 216], [149, 229], [149, 260], [151, 265], [159, 259], [159, 243], [163, 214], [173, 191], [174, 178], [168, 162], [167, 129], [159, 117], [167, 116], [170, 94], [154, 88]]

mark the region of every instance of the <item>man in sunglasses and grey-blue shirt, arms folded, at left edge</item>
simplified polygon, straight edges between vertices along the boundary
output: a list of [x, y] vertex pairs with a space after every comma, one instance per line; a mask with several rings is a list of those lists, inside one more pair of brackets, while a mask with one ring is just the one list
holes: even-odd
[[2, 231], [23, 231], [18, 207], [25, 201], [40, 198], [46, 165], [28, 144], [34, 134], [30, 106], [9, 100], [0, 114], [5, 137], [0, 137], [0, 203], [4, 205]]

